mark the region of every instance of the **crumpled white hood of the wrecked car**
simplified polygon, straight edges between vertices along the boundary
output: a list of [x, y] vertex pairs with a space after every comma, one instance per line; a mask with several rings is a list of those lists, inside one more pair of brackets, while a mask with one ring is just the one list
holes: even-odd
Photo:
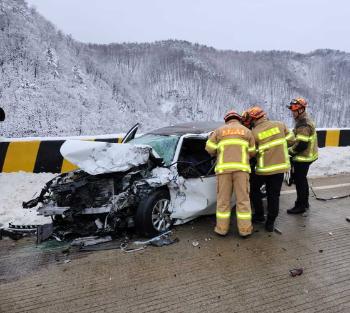
[[125, 172], [147, 163], [151, 147], [67, 140], [61, 147], [62, 156], [90, 175]]

